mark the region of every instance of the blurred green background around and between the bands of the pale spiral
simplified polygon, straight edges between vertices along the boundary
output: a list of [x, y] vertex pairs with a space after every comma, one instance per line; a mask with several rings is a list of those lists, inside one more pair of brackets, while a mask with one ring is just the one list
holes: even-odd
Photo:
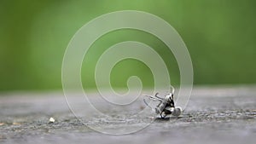
[[[254, 0], [0, 0], [0, 91], [61, 89], [61, 62], [73, 34], [96, 16], [140, 10], [169, 22], [186, 43], [195, 84], [256, 83], [256, 1]], [[114, 43], [135, 40], [153, 47], [179, 84], [177, 62], [166, 45], [146, 32], [122, 30], [99, 38], [84, 58], [84, 87], [94, 88], [96, 60]], [[153, 84], [148, 66], [123, 60], [111, 82], [125, 87], [136, 74]]]

